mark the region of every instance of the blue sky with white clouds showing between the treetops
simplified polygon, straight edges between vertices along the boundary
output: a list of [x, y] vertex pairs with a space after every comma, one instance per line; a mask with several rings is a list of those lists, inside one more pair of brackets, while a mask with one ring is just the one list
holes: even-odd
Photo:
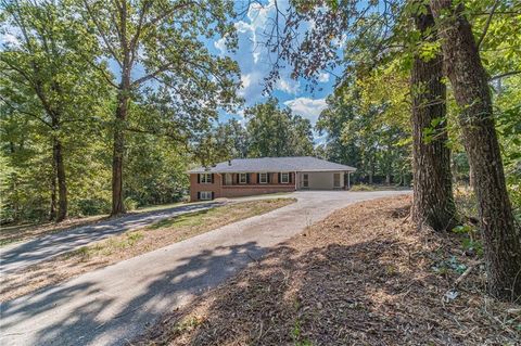
[[[279, 9], [283, 10], [287, 5], [285, 2], [278, 0]], [[271, 69], [270, 54], [260, 44], [260, 41], [263, 33], [270, 25], [269, 18], [272, 18], [275, 13], [271, 0], [263, 7], [252, 3], [246, 10], [247, 3], [249, 1], [244, 0], [236, 3], [237, 12], [244, 13], [236, 22], [239, 49], [234, 53], [230, 53], [226, 50], [224, 39], [212, 42], [217, 54], [230, 56], [238, 62], [242, 81], [239, 94], [244, 99], [246, 107], [267, 99], [267, 95], [263, 95], [263, 91], [265, 89], [264, 78]], [[290, 107], [293, 113], [309, 119], [314, 126], [320, 112], [326, 107], [326, 98], [332, 92], [333, 85], [334, 77], [322, 72], [318, 77], [318, 86], [313, 91], [306, 90], [306, 80], [293, 80], [289, 77], [289, 72], [283, 71], [274, 88], [272, 95], [279, 100], [281, 106]], [[244, 121], [243, 110], [239, 110], [237, 114], [223, 113], [219, 120], [226, 121], [229, 118]]]

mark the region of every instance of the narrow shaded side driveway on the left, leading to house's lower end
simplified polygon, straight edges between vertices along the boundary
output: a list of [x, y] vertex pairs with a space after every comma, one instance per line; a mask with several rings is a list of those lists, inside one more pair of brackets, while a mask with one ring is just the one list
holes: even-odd
[[41, 260], [52, 258], [87, 244], [101, 241], [130, 229], [138, 229], [177, 215], [209, 209], [225, 202], [187, 204], [168, 209], [129, 214], [94, 225], [74, 228], [69, 231], [43, 235], [34, 240], [0, 247], [0, 272], [10, 273]]

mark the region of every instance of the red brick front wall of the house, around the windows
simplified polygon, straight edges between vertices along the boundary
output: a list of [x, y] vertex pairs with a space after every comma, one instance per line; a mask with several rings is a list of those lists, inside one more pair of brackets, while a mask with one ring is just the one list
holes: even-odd
[[237, 184], [237, 174], [233, 174], [233, 184], [223, 185], [223, 176], [214, 174], [213, 183], [198, 183], [198, 175], [190, 175], [190, 201], [199, 201], [198, 192], [212, 191], [214, 197], [240, 197], [276, 192], [291, 192], [295, 190], [295, 175], [290, 172], [290, 183], [279, 183], [278, 172], [272, 172], [270, 183], [257, 183], [257, 174], [250, 174], [249, 184]]

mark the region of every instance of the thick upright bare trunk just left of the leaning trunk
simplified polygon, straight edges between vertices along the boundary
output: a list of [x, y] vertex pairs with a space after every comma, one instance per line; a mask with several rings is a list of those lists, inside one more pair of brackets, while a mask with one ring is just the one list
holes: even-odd
[[[423, 39], [436, 39], [431, 9], [415, 16], [417, 29]], [[447, 148], [445, 121], [446, 87], [442, 81], [443, 59], [441, 54], [430, 60], [416, 56], [410, 85], [412, 94], [412, 162], [414, 203], [412, 221], [429, 226], [436, 231], [447, 230], [456, 225], [456, 206], [450, 177], [450, 151]], [[435, 138], [425, 141], [427, 129], [435, 126]]]

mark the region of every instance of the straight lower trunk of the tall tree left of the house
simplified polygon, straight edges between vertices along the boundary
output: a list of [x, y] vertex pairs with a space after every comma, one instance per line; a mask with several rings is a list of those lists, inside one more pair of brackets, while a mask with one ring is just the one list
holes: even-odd
[[128, 112], [128, 95], [120, 90], [116, 107], [114, 127], [114, 152], [112, 157], [112, 212], [111, 215], [125, 213], [123, 203], [123, 158], [125, 155], [125, 121]]

